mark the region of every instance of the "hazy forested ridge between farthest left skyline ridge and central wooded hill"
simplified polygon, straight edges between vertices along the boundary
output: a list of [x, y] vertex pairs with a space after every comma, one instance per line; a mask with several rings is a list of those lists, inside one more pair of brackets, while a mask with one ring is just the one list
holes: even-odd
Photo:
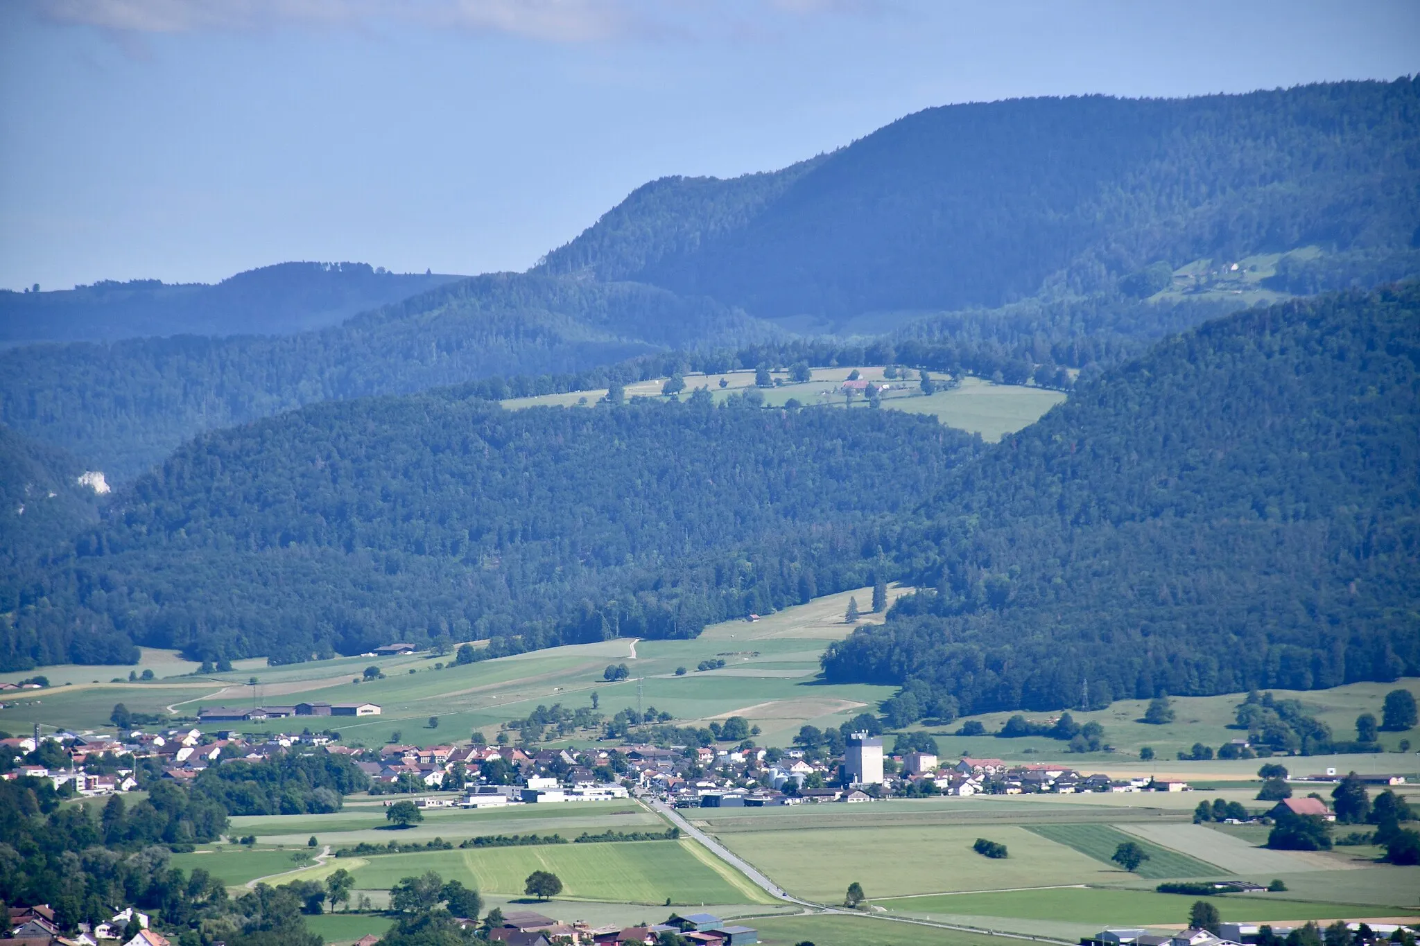
[[724, 306], [655, 286], [488, 275], [320, 332], [0, 352], [0, 423], [124, 481], [196, 433], [302, 404], [574, 372], [694, 339], [768, 335]]

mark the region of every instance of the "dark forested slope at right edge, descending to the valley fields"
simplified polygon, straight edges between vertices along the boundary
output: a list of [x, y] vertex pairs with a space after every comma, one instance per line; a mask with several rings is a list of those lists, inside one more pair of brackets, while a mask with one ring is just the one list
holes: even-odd
[[1420, 674], [1420, 288], [1254, 309], [949, 475], [933, 589], [825, 654], [927, 712]]

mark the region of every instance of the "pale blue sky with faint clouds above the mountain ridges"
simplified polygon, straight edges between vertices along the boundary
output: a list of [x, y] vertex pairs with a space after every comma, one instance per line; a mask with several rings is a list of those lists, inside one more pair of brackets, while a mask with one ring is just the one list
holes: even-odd
[[0, 288], [525, 269], [936, 105], [1416, 72], [1409, 0], [6, 0]]

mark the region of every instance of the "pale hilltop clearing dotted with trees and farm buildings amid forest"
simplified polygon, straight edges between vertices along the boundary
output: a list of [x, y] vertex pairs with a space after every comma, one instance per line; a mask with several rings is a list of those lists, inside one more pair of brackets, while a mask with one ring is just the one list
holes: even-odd
[[[883, 393], [883, 410], [902, 410], [913, 414], [930, 414], [943, 425], [981, 434], [983, 440], [995, 443], [1005, 434], [1015, 433], [1022, 427], [1030, 427], [1041, 418], [1049, 408], [1065, 400], [1064, 391], [1025, 384], [995, 384], [980, 377], [963, 377], [960, 387], [936, 394], [922, 394], [919, 390], [917, 373], [912, 372], [910, 380], [885, 379], [882, 367], [815, 367], [814, 377], [808, 382], [792, 383], [788, 372], [771, 372], [784, 382], [781, 387], [761, 389], [764, 403], [768, 407], [784, 407], [790, 400], [797, 400], [804, 406], [826, 404], [831, 407], [853, 407], [870, 410], [862, 397], [851, 404], [839, 394], [838, 389], [848, 374], [859, 372], [863, 380], [885, 383], [889, 389]], [[709, 387], [716, 403], [723, 401], [730, 394], [743, 394], [754, 387], [754, 372], [726, 372], [724, 374], [690, 373], [684, 376], [686, 397], [696, 387]], [[726, 386], [720, 387], [724, 380]], [[666, 379], [657, 377], [649, 382], [638, 382], [626, 386], [626, 397], [663, 397], [660, 393]], [[902, 386], [902, 387], [899, 387]], [[535, 397], [513, 397], [503, 401], [508, 410], [524, 410], [528, 407], [591, 407], [606, 397], [606, 389], [589, 391], [568, 391], [565, 394], [538, 394]]]

